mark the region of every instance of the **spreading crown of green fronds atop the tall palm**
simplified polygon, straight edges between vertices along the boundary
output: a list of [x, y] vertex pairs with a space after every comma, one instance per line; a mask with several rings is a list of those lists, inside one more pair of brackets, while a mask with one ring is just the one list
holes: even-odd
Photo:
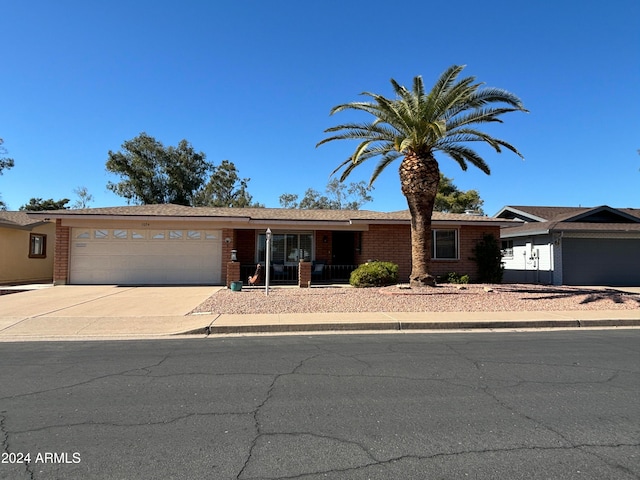
[[325, 130], [330, 134], [317, 146], [334, 140], [358, 140], [353, 154], [332, 175], [342, 171], [345, 179], [354, 168], [379, 157], [371, 177], [373, 182], [394, 160], [402, 155], [430, 156], [441, 151], [463, 170], [468, 163], [485, 173], [489, 167], [467, 143], [482, 142], [500, 153], [506, 148], [522, 157], [511, 144], [474, 128], [477, 125], [502, 122], [502, 116], [524, 111], [522, 101], [499, 88], [485, 87], [475, 77], [459, 78], [464, 66], [452, 65], [425, 93], [422, 77], [413, 79], [411, 90], [391, 79], [395, 98], [363, 92], [368, 101], [344, 103], [333, 107], [330, 114], [345, 110], [364, 112], [372, 117], [368, 123], [346, 123]]

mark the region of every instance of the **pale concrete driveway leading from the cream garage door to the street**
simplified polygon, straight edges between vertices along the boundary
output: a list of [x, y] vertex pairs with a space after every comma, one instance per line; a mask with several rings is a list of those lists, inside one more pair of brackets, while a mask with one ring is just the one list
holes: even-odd
[[219, 288], [67, 285], [0, 295], [0, 338], [189, 331], [203, 319], [186, 315]]

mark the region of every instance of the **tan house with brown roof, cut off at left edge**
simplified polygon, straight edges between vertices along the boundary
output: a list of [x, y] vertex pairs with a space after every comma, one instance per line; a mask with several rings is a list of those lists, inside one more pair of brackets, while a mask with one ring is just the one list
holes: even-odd
[[51, 283], [56, 226], [0, 211], [0, 284]]

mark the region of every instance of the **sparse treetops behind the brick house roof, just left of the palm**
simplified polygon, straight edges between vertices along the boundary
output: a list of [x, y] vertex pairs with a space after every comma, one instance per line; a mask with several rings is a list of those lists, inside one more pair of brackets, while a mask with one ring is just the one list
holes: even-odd
[[350, 183], [347, 186], [334, 178], [327, 184], [325, 195], [313, 188], [308, 188], [302, 200], [298, 202], [297, 194], [283, 193], [280, 195], [280, 206], [302, 209], [359, 210], [362, 205], [372, 200], [369, 195], [372, 188], [367, 186], [366, 182]]

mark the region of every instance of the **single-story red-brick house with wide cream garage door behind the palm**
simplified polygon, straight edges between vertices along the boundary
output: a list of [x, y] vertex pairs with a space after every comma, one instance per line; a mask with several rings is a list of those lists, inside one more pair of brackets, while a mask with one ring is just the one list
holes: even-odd
[[[347, 281], [367, 260], [397, 263], [401, 282], [411, 270], [408, 211], [140, 205], [30, 215], [56, 221], [57, 284], [224, 284], [232, 250], [244, 280], [264, 265], [267, 228], [274, 283], [296, 283], [300, 260], [313, 262], [314, 282]], [[434, 213], [432, 272], [476, 277], [473, 248], [504, 223]]]

